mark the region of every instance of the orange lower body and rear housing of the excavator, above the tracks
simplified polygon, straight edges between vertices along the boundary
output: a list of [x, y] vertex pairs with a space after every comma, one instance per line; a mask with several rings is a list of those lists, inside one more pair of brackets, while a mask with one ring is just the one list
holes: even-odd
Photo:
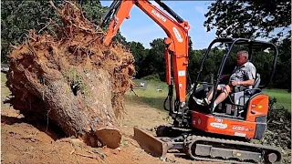
[[[202, 112], [193, 111], [192, 125], [205, 132], [237, 136], [244, 138], [255, 138], [257, 135], [264, 135], [266, 129], [260, 125], [266, 125], [266, 122], [257, 122], [256, 118], [266, 117], [268, 111], [268, 96], [264, 94], [256, 95], [251, 98], [248, 103], [245, 120], [234, 118], [216, 117], [214, 115], [206, 115]], [[266, 126], [264, 126], [266, 128]]]

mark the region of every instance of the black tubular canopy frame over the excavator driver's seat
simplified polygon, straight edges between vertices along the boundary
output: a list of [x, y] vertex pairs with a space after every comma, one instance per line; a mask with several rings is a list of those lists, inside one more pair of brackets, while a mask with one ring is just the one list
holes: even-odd
[[[220, 44], [222, 47], [225, 46], [226, 47], [226, 54], [224, 54], [224, 56], [222, 56], [222, 60], [220, 63], [220, 67], [218, 67], [216, 70], [218, 70], [216, 76], [214, 77], [213, 81], [200, 81], [200, 77], [202, 76], [202, 72], [205, 69], [208, 69], [207, 67], [204, 67], [206, 59], [208, 56], [210, 56], [210, 52], [213, 48], [213, 46], [215, 44]], [[274, 44], [269, 43], [269, 42], [265, 42], [265, 41], [258, 41], [258, 40], [250, 40], [250, 39], [246, 39], [246, 38], [217, 38], [214, 39], [214, 41], [208, 46], [208, 48], [206, 49], [204, 55], [203, 55], [203, 59], [202, 59], [202, 63], [201, 63], [201, 67], [199, 68], [199, 71], [196, 74], [196, 80], [194, 81], [194, 87], [196, 87], [199, 84], [209, 84], [209, 85], [218, 85], [218, 83], [220, 82], [220, 77], [223, 75], [224, 72], [224, 68], [226, 67], [226, 62], [228, 60], [229, 57], [235, 57], [235, 56], [231, 56], [232, 52], [234, 52], [235, 50], [239, 51], [239, 50], [247, 50], [248, 54], [249, 54], [249, 61], [251, 61], [252, 63], [254, 63], [254, 58], [259, 60], [261, 59], [261, 56], [273, 56], [273, 58], [269, 58], [269, 67], [267, 67], [267, 69], [265, 70], [266, 75], [268, 75], [268, 77], [265, 77], [266, 80], [262, 80], [261, 84], [258, 86], [259, 88], [265, 88], [269, 85], [269, 83], [271, 82], [274, 73], [275, 73], [275, 69], [276, 69], [276, 57], [278, 56], [278, 51], [277, 48]], [[256, 61], [254, 63], [255, 68], [257, 68], [256, 66]], [[233, 67], [234, 68], [234, 67]], [[269, 70], [268, 70], [269, 69]], [[261, 74], [261, 72], [256, 72]], [[195, 90], [195, 88], [194, 88]]]

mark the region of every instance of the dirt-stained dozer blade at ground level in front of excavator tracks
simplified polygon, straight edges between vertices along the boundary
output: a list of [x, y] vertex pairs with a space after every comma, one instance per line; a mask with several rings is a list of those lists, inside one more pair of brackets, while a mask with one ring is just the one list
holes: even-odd
[[167, 143], [136, 127], [134, 127], [134, 139], [139, 143], [141, 149], [144, 149], [147, 153], [165, 159], [168, 150]]

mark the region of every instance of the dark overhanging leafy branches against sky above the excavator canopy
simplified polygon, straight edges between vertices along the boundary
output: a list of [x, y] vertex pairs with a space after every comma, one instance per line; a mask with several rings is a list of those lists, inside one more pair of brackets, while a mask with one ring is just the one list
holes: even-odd
[[216, 36], [260, 36], [276, 41], [291, 32], [290, 0], [217, 0], [208, 9], [203, 26], [207, 31], [216, 27]]

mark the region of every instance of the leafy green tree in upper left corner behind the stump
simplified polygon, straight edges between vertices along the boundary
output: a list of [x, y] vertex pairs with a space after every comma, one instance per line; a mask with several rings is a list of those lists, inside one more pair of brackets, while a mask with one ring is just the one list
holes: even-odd
[[26, 40], [29, 29], [40, 33], [56, 17], [48, 1], [1, 1], [1, 60], [6, 61], [10, 44], [18, 45]]

